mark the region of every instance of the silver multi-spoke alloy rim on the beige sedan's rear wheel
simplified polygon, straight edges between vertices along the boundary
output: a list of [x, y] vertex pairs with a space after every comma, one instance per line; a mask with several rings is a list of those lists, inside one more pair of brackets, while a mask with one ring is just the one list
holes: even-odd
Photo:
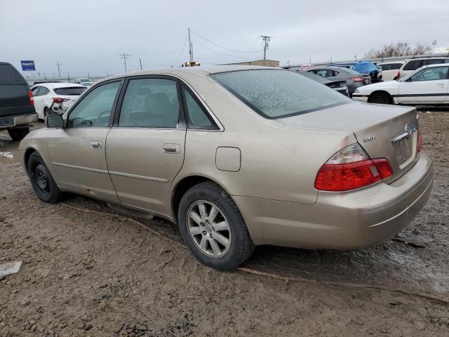
[[229, 251], [231, 227], [225, 214], [212, 202], [194, 202], [187, 211], [187, 227], [196, 247], [207, 256], [221, 258]]

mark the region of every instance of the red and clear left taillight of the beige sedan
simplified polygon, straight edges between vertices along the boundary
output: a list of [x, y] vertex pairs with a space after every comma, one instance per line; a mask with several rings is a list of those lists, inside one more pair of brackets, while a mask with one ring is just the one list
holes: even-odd
[[393, 174], [389, 161], [370, 159], [358, 144], [344, 147], [321, 166], [315, 188], [322, 191], [349, 191], [379, 182]]

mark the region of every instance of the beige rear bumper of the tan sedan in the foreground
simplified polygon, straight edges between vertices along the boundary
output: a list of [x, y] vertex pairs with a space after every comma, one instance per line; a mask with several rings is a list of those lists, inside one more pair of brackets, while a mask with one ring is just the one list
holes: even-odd
[[319, 192], [316, 204], [235, 197], [255, 244], [318, 249], [361, 249], [400, 232], [422, 209], [434, 181], [422, 152], [394, 183], [351, 192]]

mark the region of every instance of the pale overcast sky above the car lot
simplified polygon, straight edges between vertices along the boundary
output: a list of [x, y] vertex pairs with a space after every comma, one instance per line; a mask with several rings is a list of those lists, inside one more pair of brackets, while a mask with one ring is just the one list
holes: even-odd
[[187, 27], [203, 65], [262, 58], [260, 35], [274, 37], [267, 58], [281, 65], [361, 58], [396, 41], [437, 40], [443, 52], [449, 1], [0, 0], [0, 60], [34, 60], [47, 76], [60, 62], [71, 77], [124, 72], [119, 53], [128, 70], [139, 58], [144, 69], [179, 66]]

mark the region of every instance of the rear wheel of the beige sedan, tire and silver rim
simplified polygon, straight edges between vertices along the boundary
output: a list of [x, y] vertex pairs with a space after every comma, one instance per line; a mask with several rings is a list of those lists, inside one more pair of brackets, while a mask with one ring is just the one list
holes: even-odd
[[254, 251], [239, 209], [213, 182], [199, 183], [182, 196], [177, 220], [182, 239], [203, 265], [232, 270]]

